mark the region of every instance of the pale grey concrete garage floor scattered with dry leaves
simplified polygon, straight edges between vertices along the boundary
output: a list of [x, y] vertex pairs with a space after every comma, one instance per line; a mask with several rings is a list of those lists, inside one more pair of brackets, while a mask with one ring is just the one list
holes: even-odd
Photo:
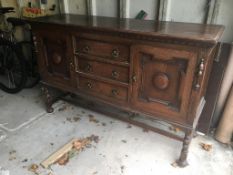
[[[90, 122], [89, 115], [98, 122]], [[174, 168], [181, 142], [63, 101], [47, 114], [38, 88], [17, 95], [0, 91], [0, 175], [35, 174], [28, 171], [31, 164], [40, 164], [72, 138], [92, 134], [99, 136], [98, 143], [65, 166], [40, 167], [39, 175], [233, 175], [232, 149], [210, 137], [194, 138], [190, 165]], [[213, 148], [205, 151], [200, 143]]]

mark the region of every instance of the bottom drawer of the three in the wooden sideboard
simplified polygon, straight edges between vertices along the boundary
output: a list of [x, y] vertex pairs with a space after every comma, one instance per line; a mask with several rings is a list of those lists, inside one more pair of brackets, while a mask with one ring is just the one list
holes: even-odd
[[78, 76], [78, 88], [93, 96], [108, 99], [110, 101], [127, 101], [127, 88], [111, 85], [95, 79]]

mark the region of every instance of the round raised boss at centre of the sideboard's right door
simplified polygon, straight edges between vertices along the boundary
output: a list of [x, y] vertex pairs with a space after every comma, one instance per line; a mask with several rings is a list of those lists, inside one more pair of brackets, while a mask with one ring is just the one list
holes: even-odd
[[163, 72], [156, 73], [152, 81], [153, 85], [160, 90], [165, 90], [169, 85], [169, 77]]

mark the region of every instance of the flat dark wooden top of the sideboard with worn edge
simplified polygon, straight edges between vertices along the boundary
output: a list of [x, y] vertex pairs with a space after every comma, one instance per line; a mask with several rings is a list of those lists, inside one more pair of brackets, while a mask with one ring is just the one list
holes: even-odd
[[168, 39], [192, 40], [209, 44], [215, 44], [224, 31], [224, 26], [222, 25], [121, 19], [73, 14], [53, 15], [25, 20], [31, 24], [56, 24], [105, 32], [114, 31]]

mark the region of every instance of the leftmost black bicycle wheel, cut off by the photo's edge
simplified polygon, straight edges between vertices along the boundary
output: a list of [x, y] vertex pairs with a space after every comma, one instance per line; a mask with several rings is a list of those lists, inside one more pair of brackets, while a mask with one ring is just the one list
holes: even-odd
[[0, 39], [0, 89], [17, 93], [27, 80], [25, 61], [20, 48], [8, 40]]

